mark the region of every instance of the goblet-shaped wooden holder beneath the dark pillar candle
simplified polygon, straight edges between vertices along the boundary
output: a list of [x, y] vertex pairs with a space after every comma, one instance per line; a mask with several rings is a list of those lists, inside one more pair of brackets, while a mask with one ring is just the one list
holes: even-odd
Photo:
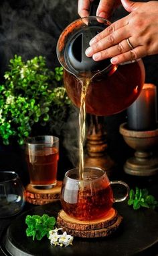
[[120, 133], [127, 145], [135, 150], [134, 156], [127, 159], [124, 170], [127, 174], [148, 177], [158, 173], [158, 126], [153, 131], [134, 131], [122, 123]]

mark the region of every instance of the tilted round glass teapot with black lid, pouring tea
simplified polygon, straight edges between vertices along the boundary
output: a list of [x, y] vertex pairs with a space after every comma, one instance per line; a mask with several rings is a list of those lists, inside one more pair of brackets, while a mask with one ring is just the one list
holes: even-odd
[[94, 61], [86, 57], [90, 40], [110, 24], [108, 20], [96, 16], [80, 18], [65, 28], [57, 44], [57, 56], [64, 67], [64, 86], [68, 96], [79, 108], [82, 85], [89, 79], [86, 113], [98, 116], [125, 110], [137, 99], [145, 82], [141, 59], [113, 65], [110, 59]]

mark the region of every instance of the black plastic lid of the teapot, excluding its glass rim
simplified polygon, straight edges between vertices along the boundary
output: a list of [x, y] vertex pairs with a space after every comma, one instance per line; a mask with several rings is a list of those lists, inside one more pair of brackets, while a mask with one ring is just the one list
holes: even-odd
[[70, 35], [70, 38], [65, 48], [65, 59], [68, 68], [75, 73], [87, 71], [99, 71], [110, 64], [110, 60], [94, 61], [92, 57], [87, 57], [85, 54], [90, 40], [100, 33], [104, 27], [98, 26], [96, 22], [88, 22], [87, 26], [81, 27], [76, 32]]

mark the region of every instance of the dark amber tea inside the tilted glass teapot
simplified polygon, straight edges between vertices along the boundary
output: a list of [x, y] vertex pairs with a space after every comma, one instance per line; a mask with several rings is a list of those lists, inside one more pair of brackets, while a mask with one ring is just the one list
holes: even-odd
[[[112, 74], [102, 71], [90, 81], [86, 94], [86, 113], [113, 115], [125, 110], [139, 96], [145, 76], [142, 61], [111, 66], [111, 71], [112, 69]], [[80, 79], [64, 71], [64, 86], [74, 105], [80, 108]]]

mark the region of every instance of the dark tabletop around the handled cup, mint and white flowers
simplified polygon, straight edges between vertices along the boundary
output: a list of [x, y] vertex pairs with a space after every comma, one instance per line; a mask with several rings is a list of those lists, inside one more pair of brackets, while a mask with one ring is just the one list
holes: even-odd
[[[130, 187], [147, 188], [149, 193], [158, 200], [157, 176], [155, 177], [131, 177], [124, 175], [121, 177]], [[48, 213], [57, 216], [61, 206], [60, 203], [49, 205], [31, 205], [25, 203], [23, 212], [12, 218], [0, 219], [0, 245], [5, 252], [5, 239], [7, 233], [13, 236], [15, 247], [22, 250], [21, 253], [13, 256], [23, 255], [106, 255], [106, 256], [132, 256], [132, 255], [158, 255], [158, 212], [141, 208], [133, 210], [127, 205], [127, 201], [114, 203], [118, 213], [123, 216], [123, 224], [113, 235], [107, 238], [74, 238], [74, 245], [61, 248], [52, 247], [48, 239], [42, 242], [33, 242], [31, 238], [25, 236], [25, 216], [27, 214]], [[23, 254], [25, 251], [26, 254]], [[5, 253], [0, 251], [0, 256]], [[7, 254], [9, 255], [10, 254]]]

